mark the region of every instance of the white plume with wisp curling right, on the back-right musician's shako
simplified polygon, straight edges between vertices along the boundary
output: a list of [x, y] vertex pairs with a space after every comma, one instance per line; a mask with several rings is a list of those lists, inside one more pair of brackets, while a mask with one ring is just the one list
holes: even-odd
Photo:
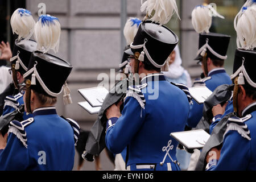
[[196, 6], [192, 11], [192, 25], [195, 31], [199, 34], [209, 33], [210, 26], [212, 26], [212, 16], [218, 16], [224, 19], [224, 16], [217, 13], [217, 11], [210, 5]]

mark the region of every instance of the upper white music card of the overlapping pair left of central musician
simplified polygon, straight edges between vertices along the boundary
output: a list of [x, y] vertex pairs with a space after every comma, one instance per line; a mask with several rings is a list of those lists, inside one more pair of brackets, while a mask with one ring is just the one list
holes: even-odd
[[102, 106], [109, 91], [104, 86], [79, 89], [78, 92], [85, 98], [92, 107]]

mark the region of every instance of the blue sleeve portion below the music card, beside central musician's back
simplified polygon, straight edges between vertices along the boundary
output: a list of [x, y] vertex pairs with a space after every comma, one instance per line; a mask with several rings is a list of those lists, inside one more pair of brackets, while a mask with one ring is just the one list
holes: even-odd
[[193, 104], [190, 105], [187, 125], [189, 127], [196, 127], [203, 117], [203, 104], [197, 104], [194, 99], [192, 101]]

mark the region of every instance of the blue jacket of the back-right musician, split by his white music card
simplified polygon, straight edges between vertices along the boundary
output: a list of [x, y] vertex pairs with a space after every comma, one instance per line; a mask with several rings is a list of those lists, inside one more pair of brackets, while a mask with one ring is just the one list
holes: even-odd
[[[232, 81], [224, 68], [217, 68], [210, 71], [208, 77], [195, 81], [194, 85], [195, 84], [205, 84], [205, 86], [213, 92], [218, 86], [223, 84], [230, 85], [232, 84]], [[197, 104], [197, 102], [193, 100], [193, 105], [190, 107], [188, 126], [196, 127], [200, 119], [203, 117], [203, 104]]]

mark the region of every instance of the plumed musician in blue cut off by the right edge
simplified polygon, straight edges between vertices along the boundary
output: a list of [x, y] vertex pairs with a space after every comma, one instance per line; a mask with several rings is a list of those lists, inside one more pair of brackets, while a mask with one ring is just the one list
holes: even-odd
[[237, 32], [233, 75], [233, 114], [228, 118], [220, 150], [208, 153], [208, 170], [255, 171], [256, 75], [255, 25], [256, 3], [248, 0], [234, 19]]

